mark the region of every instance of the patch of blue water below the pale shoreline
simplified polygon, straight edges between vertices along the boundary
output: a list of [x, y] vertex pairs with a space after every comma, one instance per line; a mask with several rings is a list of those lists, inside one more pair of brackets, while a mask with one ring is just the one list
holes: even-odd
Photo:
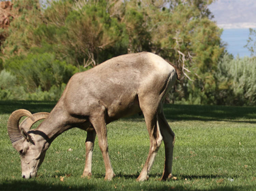
[[249, 33], [249, 29], [224, 29], [221, 38], [227, 43], [227, 51], [233, 54], [234, 57], [237, 55], [240, 57], [250, 56], [250, 51], [244, 48], [247, 44]]

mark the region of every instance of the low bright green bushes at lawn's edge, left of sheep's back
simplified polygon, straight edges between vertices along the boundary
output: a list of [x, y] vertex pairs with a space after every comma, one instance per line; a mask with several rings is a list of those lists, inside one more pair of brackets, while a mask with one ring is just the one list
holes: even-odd
[[53, 53], [15, 56], [0, 73], [1, 100], [58, 100], [77, 68]]

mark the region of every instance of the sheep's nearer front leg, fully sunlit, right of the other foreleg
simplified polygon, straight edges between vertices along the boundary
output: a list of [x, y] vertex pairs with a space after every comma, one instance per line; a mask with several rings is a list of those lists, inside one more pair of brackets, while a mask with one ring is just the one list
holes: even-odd
[[[95, 109], [96, 111], [96, 109]], [[112, 180], [115, 176], [114, 171], [111, 166], [109, 151], [108, 151], [108, 140], [107, 140], [107, 130], [105, 122], [105, 107], [101, 106], [101, 110], [97, 109], [95, 114], [90, 116], [90, 122], [94, 126], [94, 129], [98, 136], [99, 147], [103, 156], [105, 164], [105, 180]]]

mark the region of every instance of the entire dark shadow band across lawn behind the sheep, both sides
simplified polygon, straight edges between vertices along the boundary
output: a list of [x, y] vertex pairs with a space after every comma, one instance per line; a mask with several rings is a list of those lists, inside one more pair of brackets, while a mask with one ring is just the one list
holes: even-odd
[[[0, 114], [11, 114], [16, 109], [27, 109], [32, 113], [49, 112], [55, 101], [0, 101]], [[256, 123], [256, 107], [212, 106], [212, 105], [164, 105], [168, 120], [232, 121]], [[126, 120], [144, 121], [138, 114]]]

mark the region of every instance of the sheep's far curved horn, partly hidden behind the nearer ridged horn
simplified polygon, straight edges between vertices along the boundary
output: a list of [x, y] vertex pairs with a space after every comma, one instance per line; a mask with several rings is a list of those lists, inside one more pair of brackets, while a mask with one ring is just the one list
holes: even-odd
[[32, 120], [30, 117], [25, 118], [20, 124], [19, 124], [19, 129], [24, 129], [26, 132], [29, 131], [29, 129], [32, 127], [32, 125], [41, 120], [45, 119], [49, 115], [48, 112], [39, 112], [33, 114], [34, 120]]

